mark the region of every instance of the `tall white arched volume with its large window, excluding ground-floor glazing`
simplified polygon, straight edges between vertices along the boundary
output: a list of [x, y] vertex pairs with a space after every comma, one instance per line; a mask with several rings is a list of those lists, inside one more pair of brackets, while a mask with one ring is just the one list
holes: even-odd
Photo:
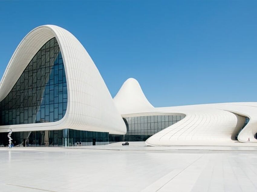
[[22, 39], [2, 77], [0, 101], [0, 132], [69, 128], [126, 133], [89, 54], [58, 26], [37, 27]]

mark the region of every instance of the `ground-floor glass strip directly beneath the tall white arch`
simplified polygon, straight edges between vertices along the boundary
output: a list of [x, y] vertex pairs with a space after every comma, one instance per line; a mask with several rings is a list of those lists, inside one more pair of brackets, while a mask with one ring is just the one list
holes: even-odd
[[[8, 133], [0, 133], [0, 146], [8, 146]], [[14, 146], [78, 146], [109, 143], [109, 133], [62, 129], [21, 131], [11, 134]]]

